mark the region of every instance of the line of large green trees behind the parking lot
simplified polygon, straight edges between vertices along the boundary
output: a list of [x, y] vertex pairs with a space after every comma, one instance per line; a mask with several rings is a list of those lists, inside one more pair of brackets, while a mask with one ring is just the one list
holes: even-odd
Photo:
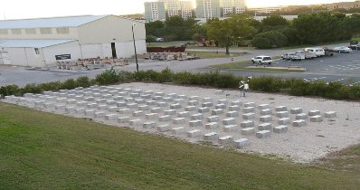
[[268, 49], [349, 40], [360, 33], [360, 14], [299, 14], [293, 21], [279, 14], [272, 14], [261, 21], [254, 20], [249, 14], [233, 14], [228, 19], [214, 18], [202, 25], [194, 19], [184, 20], [174, 16], [165, 22], [146, 24], [146, 27], [147, 36], [164, 37], [167, 41], [206, 39], [227, 50], [232, 45]]

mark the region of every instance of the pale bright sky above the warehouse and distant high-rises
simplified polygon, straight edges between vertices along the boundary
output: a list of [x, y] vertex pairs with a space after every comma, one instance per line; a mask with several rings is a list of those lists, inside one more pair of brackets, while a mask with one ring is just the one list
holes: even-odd
[[[0, 20], [84, 14], [141, 14], [155, 0], [1, 0]], [[311, 5], [355, 0], [247, 0], [248, 7]]]

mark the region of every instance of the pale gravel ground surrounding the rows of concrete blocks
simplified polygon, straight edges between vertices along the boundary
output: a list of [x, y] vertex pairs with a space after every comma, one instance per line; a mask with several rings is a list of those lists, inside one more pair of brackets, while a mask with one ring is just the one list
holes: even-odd
[[[275, 133], [271, 131], [269, 138], [257, 138], [255, 134], [242, 135], [240, 132], [227, 133], [223, 132], [222, 120], [225, 119], [225, 114], [219, 115], [220, 127], [215, 129], [205, 129], [204, 125], [206, 118], [211, 116], [211, 111], [204, 113], [203, 127], [197, 127], [204, 133], [216, 132], [220, 137], [231, 135], [233, 139], [248, 138], [250, 144], [239, 149], [242, 152], [251, 152], [263, 155], [276, 155], [278, 157], [289, 158], [294, 162], [308, 163], [321, 157], [327, 157], [328, 153], [338, 151], [340, 149], [360, 143], [360, 102], [339, 101], [339, 100], [324, 100], [315, 98], [303, 98], [292, 97], [278, 94], [266, 94], [266, 93], [254, 93], [248, 92], [246, 97], [240, 96], [239, 90], [223, 90], [220, 92], [217, 89], [204, 89], [199, 87], [183, 87], [170, 84], [155, 84], [155, 83], [124, 83], [114, 87], [130, 88], [133, 90], [153, 90], [163, 91], [165, 94], [176, 93], [178, 95], [184, 94], [187, 97], [199, 96], [200, 104], [201, 100], [205, 97], [213, 99], [214, 106], [217, 100], [228, 100], [229, 102], [235, 100], [241, 100], [242, 103], [255, 102], [256, 107], [261, 104], [270, 104], [272, 127], [279, 126], [278, 118], [275, 116], [275, 107], [286, 106], [289, 109], [302, 108], [303, 113], [308, 113], [309, 110], [320, 110], [321, 115], [327, 111], [336, 111], [336, 118], [327, 119], [324, 118], [322, 122], [310, 122], [309, 118], [306, 119], [307, 125], [304, 127], [293, 127], [291, 123], [288, 124], [288, 131], [284, 133]], [[5, 100], [10, 102], [9, 100]], [[24, 105], [24, 103], [19, 103]], [[29, 105], [27, 105], [29, 106]], [[30, 106], [31, 107], [31, 106]], [[164, 108], [169, 109], [169, 108]], [[212, 108], [214, 109], [214, 108]], [[54, 109], [43, 109], [44, 111], [60, 113], [64, 115], [70, 115], [73, 117], [84, 118], [81, 114], [67, 114], [64, 111]], [[177, 112], [183, 111], [179, 109]], [[226, 112], [226, 111], [225, 111]], [[197, 113], [192, 112], [191, 114]], [[159, 114], [161, 116], [161, 114]], [[129, 115], [131, 116], [131, 114]], [[258, 125], [262, 122], [259, 121], [261, 117], [260, 110], [256, 108], [256, 116], [251, 119], [255, 122], [254, 128], [258, 131]], [[146, 120], [144, 116], [133, 117], [142, 120]], [[175, 117], [173, 117], [174, 119]], [[292, 121], [296, 120], [294, 114], [289, 114], [289, 118]], [[143, 128], [139, 126], [129, 126], [127, 123], [117, 123], [117, 121], [109, 121], [105, 119], [94, 119], [99, 122], [104, 122], [110, 125], [118, 127], [129, 127], [139, 131], [146, 131], [156, 134], [165, 134], [169, 137], [174, 137], [170, 132], [156, 132], [154, 128]], [[240, 116], [236, 118], [236, 124], [239, 125], [242, 121], [242, 111]], [[171, 127], [178, 126], [185, 127], [185, 131], [192, 130], [188, 125], [189, 119], [186, 119], [184, 124], [173, 125], [170, 122]], [[146, 122], [146, 121], [144, 121]], [[165, 124], [166, 122], [158, 122], [156, 125]], [[203, 138], [187, 138], [186, 133], [176, 135], [175, 138], [183, 138], [190, 142], [201, 142]], [[217, 142], [214, 142], [218, 145]]]

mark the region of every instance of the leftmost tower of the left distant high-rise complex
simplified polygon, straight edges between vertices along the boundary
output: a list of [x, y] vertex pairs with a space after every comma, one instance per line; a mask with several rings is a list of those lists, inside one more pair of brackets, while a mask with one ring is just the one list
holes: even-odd
[[147, 22], [163, 21], [166, 19], [164, 2], [145, 2], [145, 20]]

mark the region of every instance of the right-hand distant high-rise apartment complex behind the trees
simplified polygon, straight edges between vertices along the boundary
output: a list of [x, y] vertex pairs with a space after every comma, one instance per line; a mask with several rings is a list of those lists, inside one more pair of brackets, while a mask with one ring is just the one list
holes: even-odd
[[196, 0], [197, 18], [226, 18], [231, 14], [242, 14], [245, 10], [245, 0]]

